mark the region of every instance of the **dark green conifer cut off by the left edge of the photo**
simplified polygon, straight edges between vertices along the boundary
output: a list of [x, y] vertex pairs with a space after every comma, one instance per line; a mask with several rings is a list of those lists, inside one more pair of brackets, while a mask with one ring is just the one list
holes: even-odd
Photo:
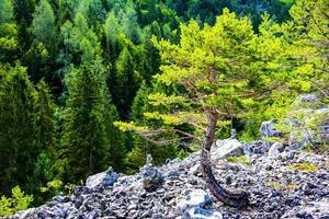
[[0, 70], [0, 178], [1, 191], [25, 185], [38, 154], [34, 139], [35, 90], [26, 69]]

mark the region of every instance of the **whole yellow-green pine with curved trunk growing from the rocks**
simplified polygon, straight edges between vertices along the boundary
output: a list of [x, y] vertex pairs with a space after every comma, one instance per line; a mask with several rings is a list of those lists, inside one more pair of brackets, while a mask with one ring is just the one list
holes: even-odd
[[[155, 41], [162, 60], [161, 73], [155, 77], [157, 83], [181, 89], [170, 95], [155, 90], [148, 95], [149, 103], [167, 111], [149, 108], [144, 116], [163, 124], [158, 131], [166, 128], [167, 131], [184, 134], [182, 125], [202, 130], [203, 176], [213, 195], [232, 207], [248, 205], [248, 193], [229, 192], [213, 175], [208, 154], [218, 123], [225, 123], [237, 113], [240, 116], [247, 112], [252, 114], [253, 106], [263, 103], [264, 99], [285, 103], [283, 96], [287, 95], [284, 94], [292, 96], [296, 93], [291, 90], [291, 81], [298, 72], [285, 55], [290, 47], [283, 37], [273, 34], [277, 25], [264, 23], [261, 27], [261, 33], [257, 34], [247, 18], [238, 19], [235, 13], [224, 10], [214, 26], [202, 28], [195, 21], [182, 25], [178, 45], [164, 39]], [[298, 79], [299, 84], [308, 80], [307, 77]], [[154, 132], [149, 126], [117, 125], [123, 130], [136, 130], [145, 138]], [[189, 132], [184, 135], [191, 137]]]

